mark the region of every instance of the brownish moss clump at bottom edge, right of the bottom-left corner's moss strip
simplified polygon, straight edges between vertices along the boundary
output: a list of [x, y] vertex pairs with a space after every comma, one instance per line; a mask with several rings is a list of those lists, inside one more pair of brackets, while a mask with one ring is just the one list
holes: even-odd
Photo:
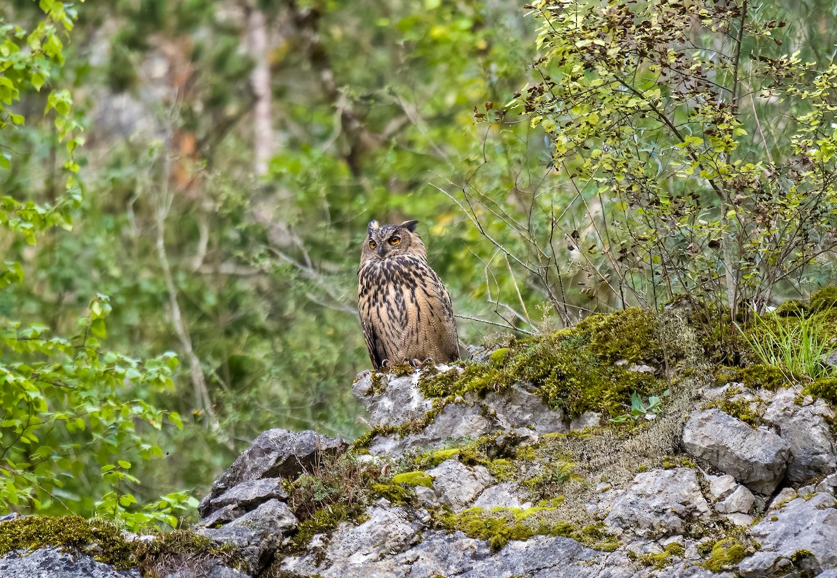
[[159, 578], [174, 570], [190, 575], [208, 558], [230, 568], [246, 570], [246, 563], [233, 545], [217, 545], [192, 530], [174, 530], [136, 545], [137, 565], [146, 578]]

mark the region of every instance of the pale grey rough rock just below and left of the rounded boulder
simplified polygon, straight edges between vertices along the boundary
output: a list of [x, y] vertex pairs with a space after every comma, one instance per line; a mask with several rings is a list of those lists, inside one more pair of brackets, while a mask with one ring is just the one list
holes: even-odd
[[620, 537], [660, 538], [683, 534], [686, 524], [707, 519], [709, 512], [694, 470], [656, 469], [634, 477], [604, 523]]

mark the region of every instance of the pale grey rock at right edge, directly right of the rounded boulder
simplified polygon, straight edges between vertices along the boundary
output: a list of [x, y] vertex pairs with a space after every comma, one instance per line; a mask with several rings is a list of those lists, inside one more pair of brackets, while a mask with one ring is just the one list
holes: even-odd
[[783, 389], [764, 412], [764, 422], [776, 427], [790, 446], [787, 476], [801, 483], [834, 470], [837, 448], [829, 430], [828, 420], [834, 413], [824, 400], [809, 398], [804, 406], [796, 404], [796, 391]]

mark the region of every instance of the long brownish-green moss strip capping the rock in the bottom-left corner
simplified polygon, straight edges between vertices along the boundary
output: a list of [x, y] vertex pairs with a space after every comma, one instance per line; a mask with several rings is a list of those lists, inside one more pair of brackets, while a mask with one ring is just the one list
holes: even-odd
[[134, 548], [113, 524], [80, 516], [27, 516], [0, 524], [0, 556], [44, 546], [76, 550], [117, 570], [136, 566]]

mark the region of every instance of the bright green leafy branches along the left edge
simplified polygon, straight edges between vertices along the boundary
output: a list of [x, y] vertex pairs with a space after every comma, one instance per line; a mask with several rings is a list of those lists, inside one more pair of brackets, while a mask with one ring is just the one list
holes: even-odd
[[[43, 0], [31, 32], [3, 23], [0, 34], [0, 130], [18, 130], [26, 120], [12, 106], [33, 89], [52, 84], [64, 64], [66, 33], [75, 12], [63, 3]], [[59, 33], [63, 30], [64, 34]], [[54, 144], [64, 143], [65, 187], [54, 202], [0, 197], [0, 236], [33, 245], [50, 228], [72, 225], [71, 211], [80, 206], [74, 159], [82, 142], [80, 121], [68, 90], [49, 90], [44, 115], [52, 118]], [[13, 151], [13, 149], [8, 149]], [[15, 171], [19, 159], [4, 152], [0, 165]], [[80, 272], [79, 272], [80, 273]], [[20, 261], [7, 260], [0, 269], [4, 295], [24, 296], [32, 281]], [[126, 521], [131, 529], [151, 523], [174, 526], [172, 511], [193, 507], [186, 494], [173, 493], [146, 509], [136, 509], [131, 487], [140, 482], [130, 472], [135, 461], [162, 456], [146, 439], [149, 429], [165, 423], [182, 427], [177, 412], [163, 411], [147, 401], [154, 391], [172, 386], [177, 357], [167, 352], [136, 359], [106, 350], [105, 318], [110, 298], [95, 294], [70, 337], [56, 335], [23, 307], [9, 307], [0, 320], [0, 504], [18, 511], [86, 513], [93, 511]], [[95, 488], [91, 491], [91, 488]]]

